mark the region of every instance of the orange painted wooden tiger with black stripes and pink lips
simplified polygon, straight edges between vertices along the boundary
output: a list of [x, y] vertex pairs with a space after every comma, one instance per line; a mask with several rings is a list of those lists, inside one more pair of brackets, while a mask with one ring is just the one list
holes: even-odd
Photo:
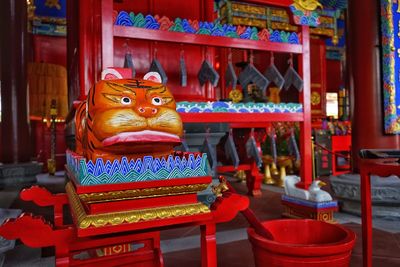
[[183, 132], [174, 97], [156, 72], [97, 82], [76, 110], [75, 127], [78, 154], [111, 162], [167, 156]]

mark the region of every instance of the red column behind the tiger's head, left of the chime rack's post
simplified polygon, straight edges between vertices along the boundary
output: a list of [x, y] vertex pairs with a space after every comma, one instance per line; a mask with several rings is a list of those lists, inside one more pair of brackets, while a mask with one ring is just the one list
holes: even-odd
[[[105, 5], [108, 4], [108, 5]], [[112, 31], [112, 0], [68, 0], [68, 86], [69, 102], [85, 99], [86, 92], [91, 86], [100, 79], [102, 70], [102, 56], [104, 51], [101, 49], [102, 32], [101, 23], [102, 8], [108, 12], [106, 18], [108, 31]], [[111, 28], [110, 28], [111, 27]], [[112, 32], [104, 35], [105, 42], [113, 42]], [[110, 40], [111, 38], [111, 40]], [[110, 53], [112, 53], [112, 45]], [[107, 67], [110, 58], [106, 58]], [[111, 58], [112, 60], [112, 58]]]

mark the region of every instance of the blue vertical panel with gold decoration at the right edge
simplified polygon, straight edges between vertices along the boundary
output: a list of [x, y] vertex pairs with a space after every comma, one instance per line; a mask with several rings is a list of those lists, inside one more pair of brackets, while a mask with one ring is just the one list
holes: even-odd
[[384, 129], [400, 134], [400, 5], [381, 0]]

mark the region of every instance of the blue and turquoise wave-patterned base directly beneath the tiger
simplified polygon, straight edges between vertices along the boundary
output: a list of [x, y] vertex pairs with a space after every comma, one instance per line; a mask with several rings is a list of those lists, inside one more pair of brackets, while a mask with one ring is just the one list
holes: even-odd
[[96, 162], [86, 161], [85, 158], [67, 151], [67, 166], [77, 177], [81, 185], [115, 184], [128, 182], [144, 182], [207, 176], [207, 154], [195, 157], [189, 154], [187, 158], [169, 156], [168, 158], [153, 158], [128, 161], [104, 162], [98, 158]]

